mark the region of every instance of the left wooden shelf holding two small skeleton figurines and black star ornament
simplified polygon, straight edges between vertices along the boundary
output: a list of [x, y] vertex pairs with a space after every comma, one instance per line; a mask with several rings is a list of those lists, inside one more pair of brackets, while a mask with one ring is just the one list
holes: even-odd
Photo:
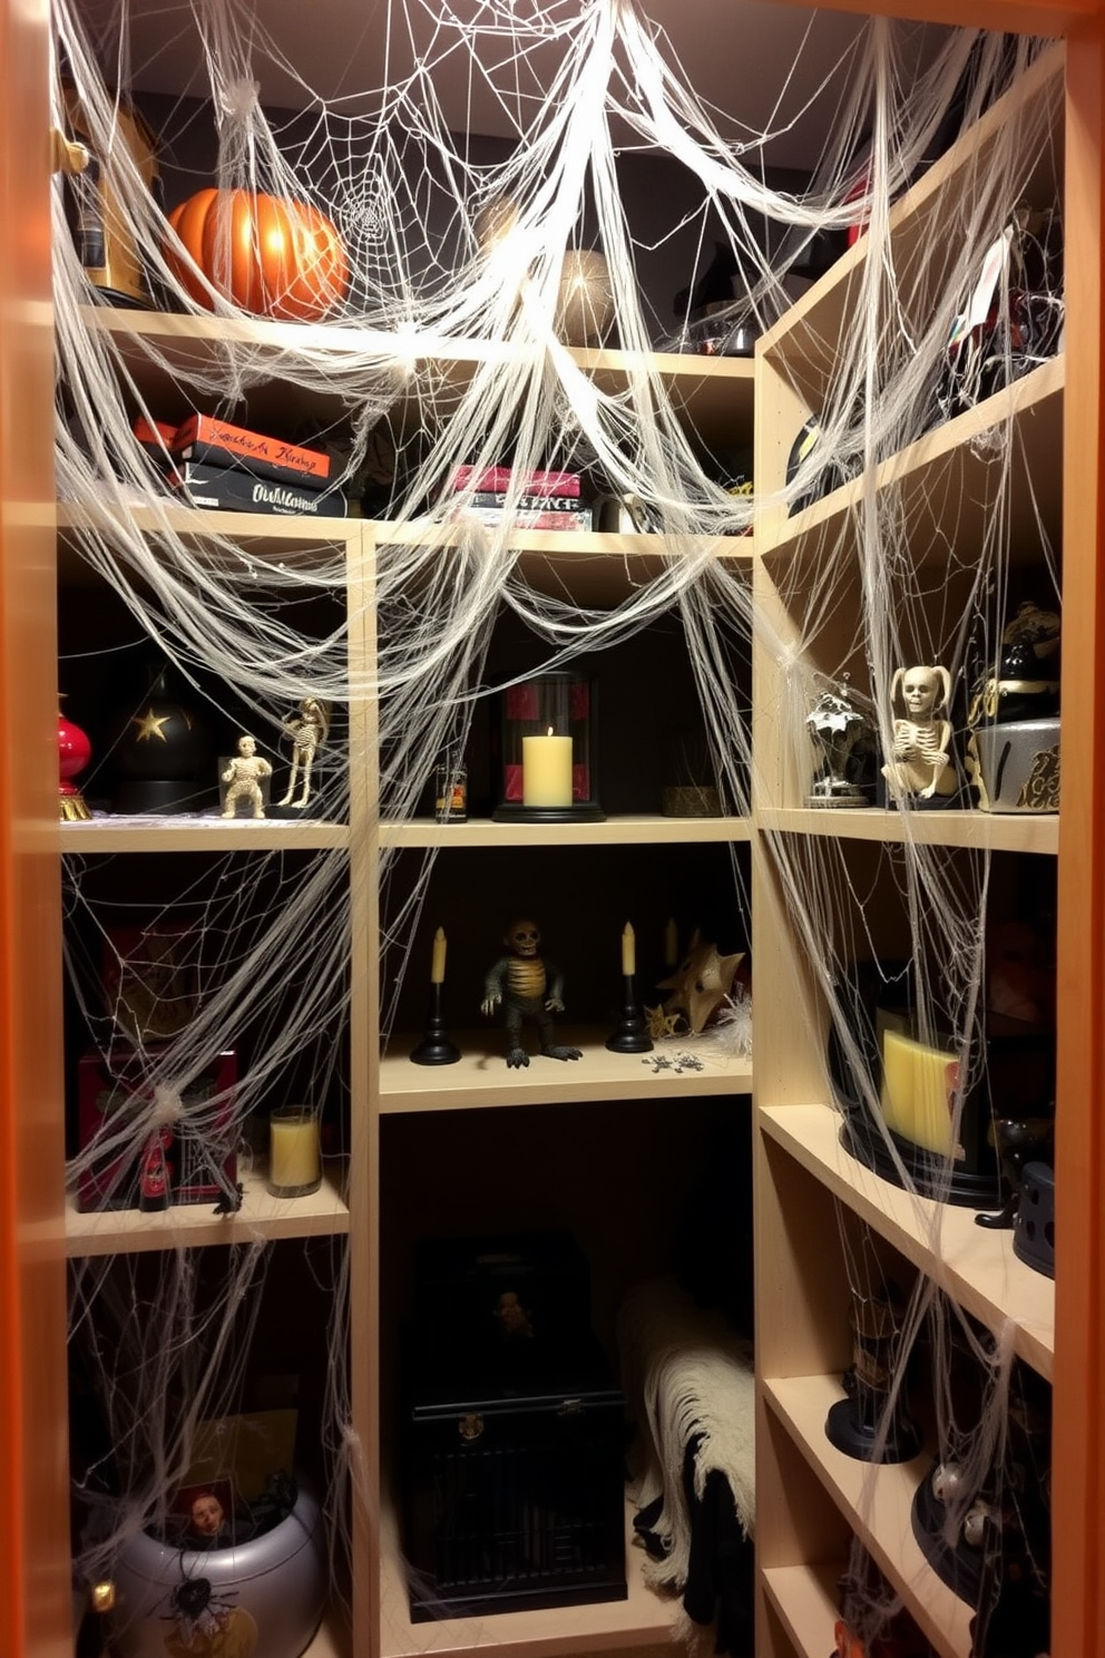
[[84, 852], [331, 852], [350, 846], [350, 826], [305, 817], [103, 816], [61, 824], [61, 851]]

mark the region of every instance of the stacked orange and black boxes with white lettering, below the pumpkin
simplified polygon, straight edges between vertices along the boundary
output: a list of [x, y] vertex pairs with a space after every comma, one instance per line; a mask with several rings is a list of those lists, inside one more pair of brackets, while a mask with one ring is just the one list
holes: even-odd
[[191, 414], [182, 426], [138, 421], [134, 436], [182, 502], [217, 512], [345, 517], [330, 456], [245, 426]]

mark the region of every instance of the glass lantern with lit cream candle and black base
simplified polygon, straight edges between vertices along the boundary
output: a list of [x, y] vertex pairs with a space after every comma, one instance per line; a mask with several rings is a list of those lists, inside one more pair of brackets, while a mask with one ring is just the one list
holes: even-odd
[[538, 673], [499, 693], [495, 822], [603, 822], [596, 693], [580, 673]]

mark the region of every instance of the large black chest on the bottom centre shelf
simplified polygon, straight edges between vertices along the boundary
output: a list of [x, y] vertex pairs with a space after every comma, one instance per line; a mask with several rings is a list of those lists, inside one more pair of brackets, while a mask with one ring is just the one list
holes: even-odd
[[593, 1338], [543, 1381], [404, 1393], [411, 1620], [625, 1600], [625, 1398]]

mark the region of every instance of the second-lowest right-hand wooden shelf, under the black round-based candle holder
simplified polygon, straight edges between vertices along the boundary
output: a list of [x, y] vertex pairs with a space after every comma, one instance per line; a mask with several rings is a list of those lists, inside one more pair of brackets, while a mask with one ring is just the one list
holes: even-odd
[[[901, 1595], [941, 1658], [971, 1651], [974, 1608], [933, 1572], [910, 1525], [913, 1492], [931, 1472], [924, 1452], [880, 1467], [845, 1456], [825, 1437], [828, 1408], [845, 1398], [838, 1376], [764, 1378], [764, 1398], [853, 1532]], [[828, 1648], [832, 1650], [832, 1648]]]

